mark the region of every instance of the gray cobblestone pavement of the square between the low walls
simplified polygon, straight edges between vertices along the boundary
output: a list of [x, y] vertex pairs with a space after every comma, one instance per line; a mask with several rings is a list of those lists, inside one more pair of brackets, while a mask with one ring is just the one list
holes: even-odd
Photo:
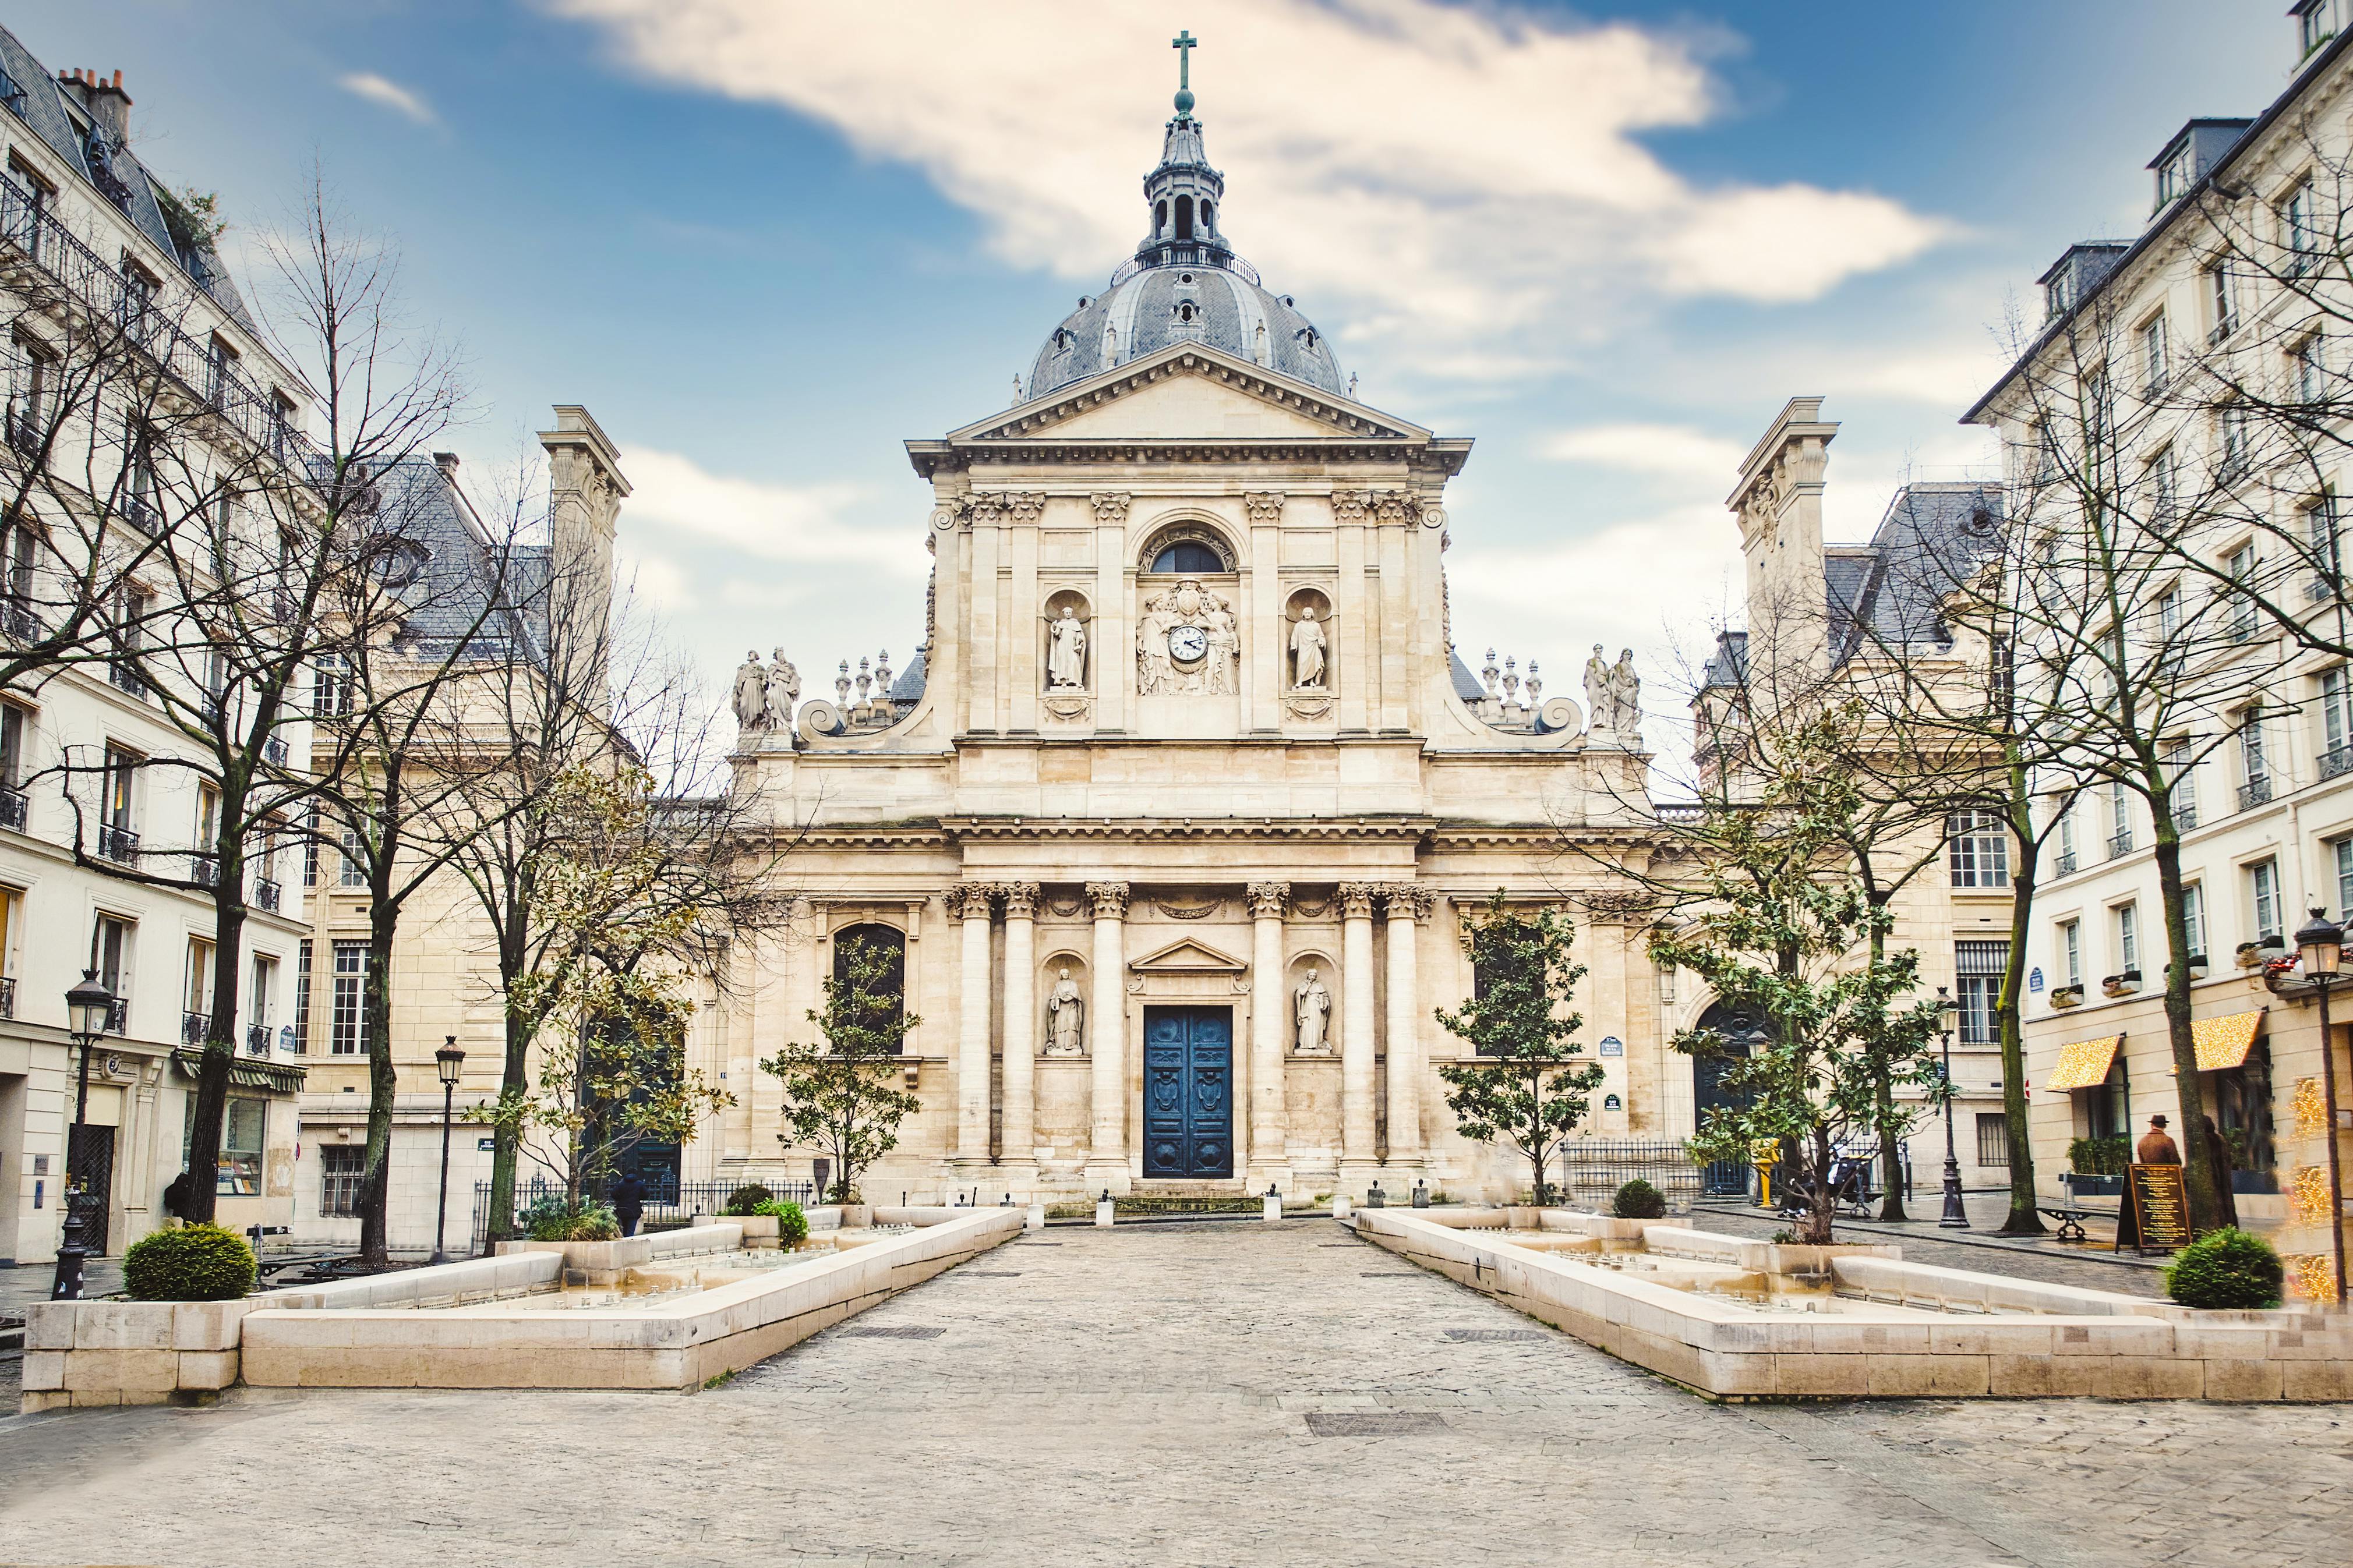
[[31, 1563], [2341, 1568], [2353, 1408], [1711, 1406], [1294, 1220], [1021, 1239], [694, 1396], [19, 1418], [0, 1476]]

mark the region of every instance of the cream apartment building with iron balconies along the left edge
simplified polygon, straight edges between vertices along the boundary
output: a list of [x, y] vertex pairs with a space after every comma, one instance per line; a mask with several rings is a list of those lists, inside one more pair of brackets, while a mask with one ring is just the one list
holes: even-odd
[[[78, 541], [136, 559], [188, 508], [233, 505], [207, 487], [292, 461], [311, 409], [301, 376], [254, 329], [202, 212], [136, 155], [129, 110], [120, 73], [52, 73], [0, 31], [0, 635], [16, 651], [56, 630]], [[141, 425], [165, 411], [169, 449]], [[106, 590], [118, 628], [172, 614], [169, 571], [134, 567]], [[214, 1011], [205, 884], [219, 875], [207, 853], [219, 792], [174, 766], [188, 736], [153, 679], [136, 658], [68, 658], [0, 698], [0, 1262], [54, 1255], [78, 1119], [73, 1164], [104, 1194], [89, 1206], [94, 1251], [120, 1253], [158, 1227], [184, 1168]], [[176, 696], [186, 715], [202, 693]], [[304, 755], [306, 724], [289, 722], [275, 745]], [[271, 839], [249, 863], [216, 1178], [219, 1220], [235, 1227], [282, 1225], [294, 1208], [294, 1025], [308, 994], [294, 853]], [[64, 999], [85, 969], [113, 994], [87, 1081]]]

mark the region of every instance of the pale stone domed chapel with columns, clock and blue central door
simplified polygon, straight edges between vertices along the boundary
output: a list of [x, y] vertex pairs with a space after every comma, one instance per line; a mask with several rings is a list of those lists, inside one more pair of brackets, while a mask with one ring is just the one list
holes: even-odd
[[1631, 665], [1588, 670], [1591, 729], [1461, 665], [1471, 442], [1355, 402], [1226, 244], [1186, 108], [1151, 233], [1019, 407], [906, 444], [936, 557], [911, 670], [798, 710], [788, 668], [739, 672], [739, 788], [798, 832], [795, 905], [706, 1032], [736, 1105], [689, 1171], [809, 1175], [758, 1060], [809, 1039], [861, 931], [904, 950], [925, 1100], [871, 1197], [1515, 1192], [1525, 1161], [1454, 1131], [1431, 1016], [1471, 994], [1461, 922], [1497, 889], [1579, 926], [1591, 1131], [1689, 1131], [1614, 870], [1649, 842]]

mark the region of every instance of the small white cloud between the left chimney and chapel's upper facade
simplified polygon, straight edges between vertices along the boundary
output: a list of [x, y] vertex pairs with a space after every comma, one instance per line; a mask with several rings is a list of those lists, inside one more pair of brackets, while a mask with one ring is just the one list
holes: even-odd
[[[889, 529], [859, 527], [845, 512], [866, 498], [859, 484], [772, 484], [715, 475], [675, 451], [631, 447], [621, 456], [631, 482], [624, 531], [652, 524], [715, 545], [798, 567], [868, 567], [922, 578], [922, 515]], [[678, 541], [671, 541], [678, 543]]]

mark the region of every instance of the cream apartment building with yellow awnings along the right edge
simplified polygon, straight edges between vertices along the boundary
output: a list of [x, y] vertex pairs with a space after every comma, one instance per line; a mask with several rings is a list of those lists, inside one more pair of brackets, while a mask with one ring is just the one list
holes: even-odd
[[[2033, 339], [1967, 414], [2000, 433], [2035, 541], [2021, 602], [2061, 604], [2024, 639], [2040, 637], [2052, 691], [2073, 693], [2054, 717], [2099, 731], [2038, 780], [2049, 842], [2024, 1009], [2038, 1182], [2059, 1197], [2061, 1173], [2113, 1164], [2155, 1114], [2195, 1133], [2162, 1013], [2169, 825], [2200, 1098], [2238, 1166], [2240, 1220], [2275, 1232], [2306, 1293], [2332, 1288], [2322, 1074], [2339, 1095], [2348, 1074], [2341, 1023], [2322, 1048], [2294, 931], [2313, 907], [2353, 907], [2353, 677], [2334, 637], [2353, 353], [2339, 12], [2292, 12], [2304, 63], [2261, 115], [2188, 120], [2167, 141], [2139, 235], [2068, 247], [2040, 280]], [[2087, 581], [2108, 609], [2066, 635], [2066, 595]], [[2127, 717], [2101, 729], [2106, 712]]]

